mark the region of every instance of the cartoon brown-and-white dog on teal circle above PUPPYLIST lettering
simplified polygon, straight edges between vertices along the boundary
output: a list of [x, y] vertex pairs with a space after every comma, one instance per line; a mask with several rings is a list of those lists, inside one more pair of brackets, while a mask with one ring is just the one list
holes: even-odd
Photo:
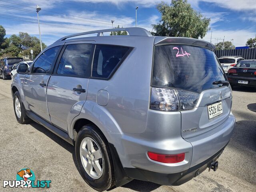
[[17, 176], [16, 176], [16, 179], [17, 180], [20, 180], [20, 181], [25, 181], [27, 184], [23, 185], [21, 184], [20, 187], [21, 188], [30, 188], [31, 187], [31, 182], [30, 181], [33, 181], [35, 180], [35, 175], [34, 175], [34, 172], [30, 169], [21, 169], [18, 173], [17, 173]]

